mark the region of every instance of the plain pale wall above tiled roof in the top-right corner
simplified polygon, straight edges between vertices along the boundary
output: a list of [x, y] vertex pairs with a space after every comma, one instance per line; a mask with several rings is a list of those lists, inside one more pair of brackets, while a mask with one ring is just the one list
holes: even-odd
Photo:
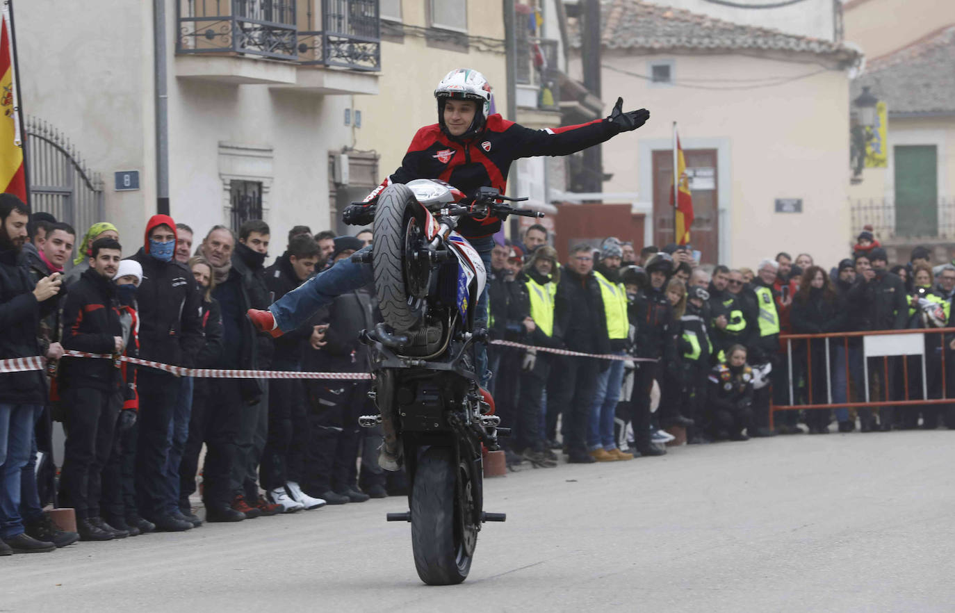
[[846, 7], [845, 40], [858, 44], [870, 60], [955, 24], [952, 0], [857, 0]]

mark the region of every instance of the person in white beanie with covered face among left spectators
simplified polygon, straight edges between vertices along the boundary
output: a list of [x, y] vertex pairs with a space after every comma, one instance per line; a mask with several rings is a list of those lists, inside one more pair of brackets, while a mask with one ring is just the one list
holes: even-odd
[[[113, 283], [117, 292], [117, 314], [122, 328], [123, 355], [138, 357], [139, 312], [136, 291], [142, 283], [142, 266], [135, 260], [119, 263]], [[102, 497], [99, 508], [103, 520], [120, 531], [136, 537], [155, 529], [145, 519], [136, 521], [136, 440], [139, 397], [136, 391], [137, 368], [123, 362], [122, 410], [119, 412], [113, 450], [103, 467]], [[129, 518], [129, 519], [128, 519]], [[132, 519], [132, 521], [130, 521]]]

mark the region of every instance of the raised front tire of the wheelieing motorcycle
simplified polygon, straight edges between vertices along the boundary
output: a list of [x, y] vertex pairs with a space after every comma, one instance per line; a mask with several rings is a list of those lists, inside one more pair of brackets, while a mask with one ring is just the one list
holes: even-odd
[[[374, 248], [371, 262], [378, 307], [385, 323], [396, 332], [416, 328], [424, 319], [427, 307], [427, 285], [422, 295], [420, 285], [426, 281], [409, 279], [408, 241], [415, 233], [423, 237], [421, 217], [412, 190], [400, 183], [389, 185], [378, 197], [374, 214]], [[409, 282], [418, 285], [415, 290]]]

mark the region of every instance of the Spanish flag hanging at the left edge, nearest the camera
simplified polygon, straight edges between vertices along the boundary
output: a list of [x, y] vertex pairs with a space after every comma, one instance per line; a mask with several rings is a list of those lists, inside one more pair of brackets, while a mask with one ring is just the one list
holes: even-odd
[[3, 9], [0, 35], [0, 191], [27, 201], [26, 171], [23, 167], [23, 137], [20, 134], [20, 108], [16, 91], [13, 35], [7, 3]]

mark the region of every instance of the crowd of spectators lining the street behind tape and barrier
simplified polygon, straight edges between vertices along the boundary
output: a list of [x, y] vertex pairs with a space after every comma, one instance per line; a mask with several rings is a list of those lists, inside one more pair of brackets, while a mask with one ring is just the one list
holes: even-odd
[[[301, 328], [273, 338], [245, 313], [264, 309], [371, 243], [292, 228], [265, 266], [268, 225], [204, 235], [155, 215], [141, 236], [109, 222], [83, 235], [0, 195], [0, 360], [43, 356], [46, 370], [0, 369], [0, 555], [53, 551], [404, 494], [377, 464], [380, 429], [367, 380], [192, 378], [121, 356], [196, 369], [367, 372], [358, 332], [380, 321], [373, 286], [334, 299]], [[860, 335], [782, 334], [946, 328], [955, 265], [929, 252], [889, 266], [862, 232], [831, 269], [787, 253], [755, 269], [699, 264], [689, 248], [607, 238], [560, 262], [534, 225], [498, 243], [488, 271], [490, 388], [512, 435], [511, 470], [626, 461], [666, 444], [751, 436], [955, 428], [944, 398], [955, 384], [955, 340], [926, 335], [921, 358], [867, 358]], [[74, 257], [74, 251], [76, 253]], [[67, 270], [70, 261], [72, 266]], [[827, 346], [828, 344], [828, 346]], [[77, 357], [68, 351], [107, 354]], [[15, 361], [15, 360], [14, 360]], [[924, 364], [924, 367], [923, 367]], [[866, 368], [868, 367], [868, 368]], [[923, 372], [924, 369], [924, 372]], [[867, 372], [867, 376], [866, 373]], [[923, 387], [923, 379], [925, 385]], [[866, 388], [866, 382], [868, 389]], [[775, 405], [884, 399], [878, 409], [771, 412]], [[54, 462], [53, 422], [65, 444]], [[678, 441], [679, 442], [679, 441]], [[71, 507], [76, 532], [44, 511]]]

